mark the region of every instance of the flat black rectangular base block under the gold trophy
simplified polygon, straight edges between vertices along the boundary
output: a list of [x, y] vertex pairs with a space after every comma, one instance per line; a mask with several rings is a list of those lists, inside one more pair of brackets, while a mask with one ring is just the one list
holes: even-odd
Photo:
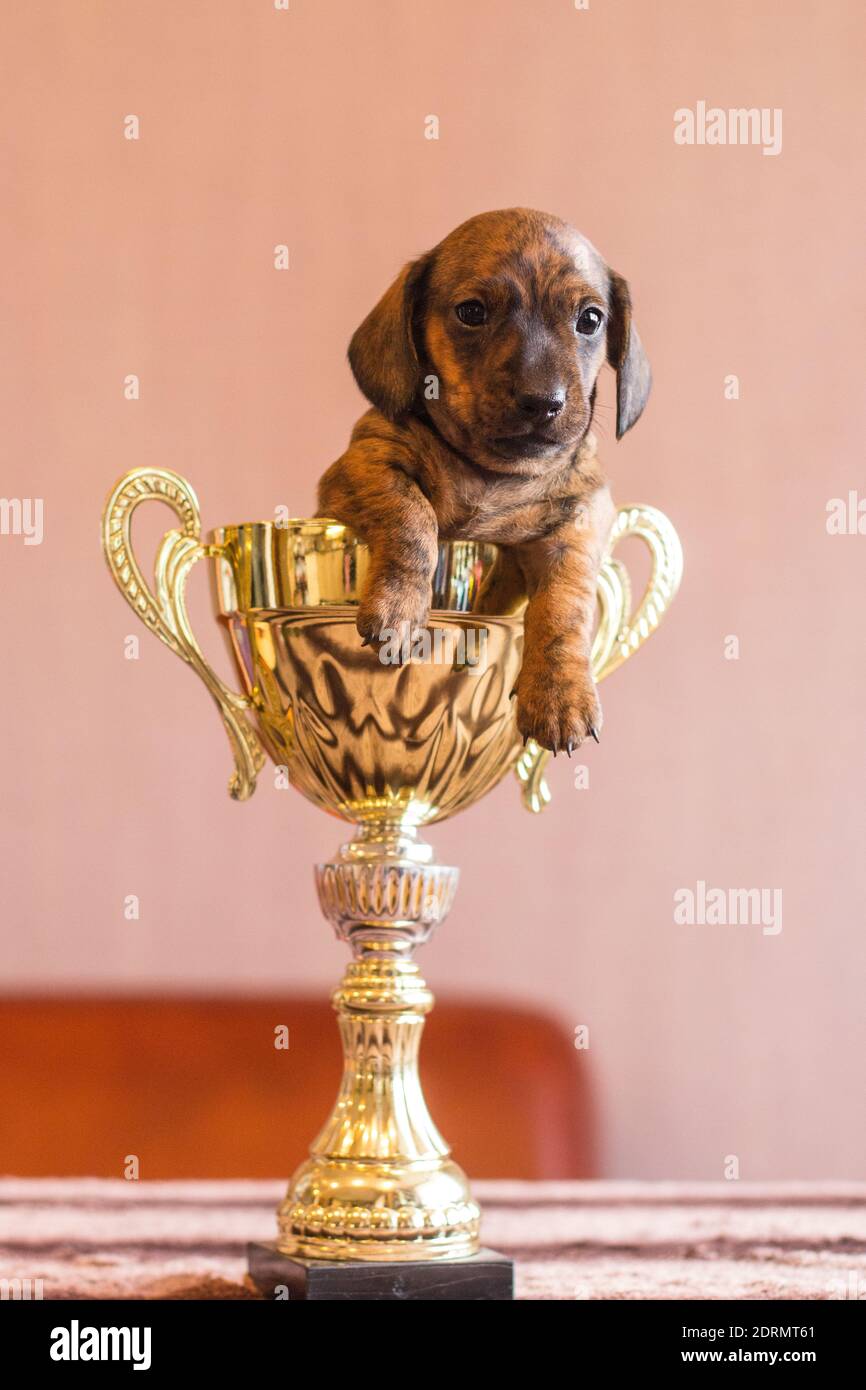
[[381, 1298], [459, 1298], [510, 1301], [514, 1297], [514, 1262], [493, 1250], [480, 1250], [463, 1259], [388, 1261], [304, 1259], [284, 1255], [275, 1243], [250, 1241], [246, 1247], [250, 1279], [265, 1298], [306, 1298], [361, 1302]]

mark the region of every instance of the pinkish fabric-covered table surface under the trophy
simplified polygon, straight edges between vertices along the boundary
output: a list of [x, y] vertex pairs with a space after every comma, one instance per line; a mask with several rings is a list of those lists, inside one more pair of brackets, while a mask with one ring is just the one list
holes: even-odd
[[[474, 1183], [517, 1297], [866, 1298], [866, 1183]], [[253, 1298], [281, 1182], [0, 1180], [0, 1279], [44, 1298]]]

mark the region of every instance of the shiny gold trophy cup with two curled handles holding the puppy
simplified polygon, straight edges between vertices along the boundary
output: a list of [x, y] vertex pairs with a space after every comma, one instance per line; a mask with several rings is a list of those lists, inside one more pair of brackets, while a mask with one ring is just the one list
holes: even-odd
[[[149, 500], [168, 503], [181, 523], [158, 548], [153, 589], [131, 541], [132, 514]], [[639, 537], [652, 562], [634, 612], [627, 571], [613, 556], [626, 537]], [[430, 1297], [512, 1297], [502, 1280], [491, 1286], [498, 1291], [460, 1293], [460, 1272], [471, 1277], [473, 1257], [484, 1258], [480, 1209], [421, 1091], [418, 1042], [434, 999], [413, 959], [457, 885], [457, 869], [435, 863], [420, 831], [471, 806], [509, 769], [530, 810], [549, 801], [549, 753], [532, 741], [523, 746], [509, 698], [521, 662], [521, 614], [473, 614], [496, 546], [439, 546], [431, 652], [410, 653], [400, 666], [384, 664], [360, 642], [354, 606], [368, 552], [338, 523], [254, 521], [220, 527], [202, 541], [192, 486], [168, 468], [135, 468], [108, 498], [103, 546], [128, 603], [213, 695], [235, 760], [229, 794], [252, 796], [267, 751], [297, 791], [354, 827], [334, 859], [316, 866], [322, 912], [352, 949], [332, 997], [343, 1077], [278, 1208], [277, 1264], [303, 1270], [302, 1297], [317, 1297], [310, 1270], [371, 1262], [368, 1275], [395, 1265], [423, 1275], [442, 1261], [453, 1262], [445, 1280], [453, 1276], [453, 1291], [442, 1293], [438, 1269]], [[214, 562], [215, 610], [242, 694], [211, 670], [190, 630], [185, 587], [203, 556]], [[599, 575], [596, 681], [653, 632], [681, 570], [671, 523], [649, 506], [621, 507]], [[510, 1282], [510, 1262], [492, 1259], [509, 1266]], [[278, 1282], [275, 1273], [271, 1286]], [[293, 1276], [282, 1283], [300, 1287]], [[402, 1291], [359, 1297], [425, 1297], [423, 1289], [423, 1280], [403, 1282]]]

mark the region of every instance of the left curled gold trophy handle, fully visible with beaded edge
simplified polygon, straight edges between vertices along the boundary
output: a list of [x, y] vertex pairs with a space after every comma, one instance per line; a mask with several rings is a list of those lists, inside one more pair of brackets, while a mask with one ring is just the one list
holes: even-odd
[[[167, 531], [156, 559], [156, 596], [135, 559], [131, 539], [132, 513], [142, 502], [167, 502], [181, 521], [179, 531]], [[235, 771], [229, 796], [246, 801], [256, 790], [256, 776], [264, 766], [264, 752], [246, 717], [252, 702], [225, 685], [199, 649], [186, 613], [186, 578], [202, 556], [220, 555], [220, 546], [200, 539], [199, 500], [195, 491], [170, 468], [133, 468], [111, 492], [103, 512], [103, 550], [108, 569], [129, 607], [145, 627], [186, 662], [207, 685], [222, 716]]]

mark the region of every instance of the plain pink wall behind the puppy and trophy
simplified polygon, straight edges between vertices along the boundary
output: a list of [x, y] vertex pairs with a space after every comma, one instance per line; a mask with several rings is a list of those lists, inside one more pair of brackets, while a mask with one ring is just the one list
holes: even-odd
[[[728, 1154], [744, 1177], [862, 1175], [866, 537], [826, 530], [827, 500], [863, 485], [860, 17], [856, 0], [7, 13], [1, 491], [44, 499], [40, 546], [0, 537], [7, 987], [335, 981], [310, 866], [341, 827], [267, 776], [228, 801], [197, 681], [147, 637], [124, 659], [136, 628], [99, 514], [120, 473], [157, 463], [193, 481], [207, 525], [309, 513], [361, 410], [350, 331], [388, 279], [475, 211], [537, 206], [631, 281], [655, 395], [602, 450], [620, 499], [674, 518], [687, 581], [603, 691], [589, 791], [560, 759], [542, 817], [509, 778], [434, 833], [463, 884], [430, 980], [589, 1024], [612, 1175], [719, 1177]], [[781, 153], [674, 145], [674, 110], [701, 99], [780, 107]], [[674, 924], [698, 880], [781, 888], [783, 931]]]

